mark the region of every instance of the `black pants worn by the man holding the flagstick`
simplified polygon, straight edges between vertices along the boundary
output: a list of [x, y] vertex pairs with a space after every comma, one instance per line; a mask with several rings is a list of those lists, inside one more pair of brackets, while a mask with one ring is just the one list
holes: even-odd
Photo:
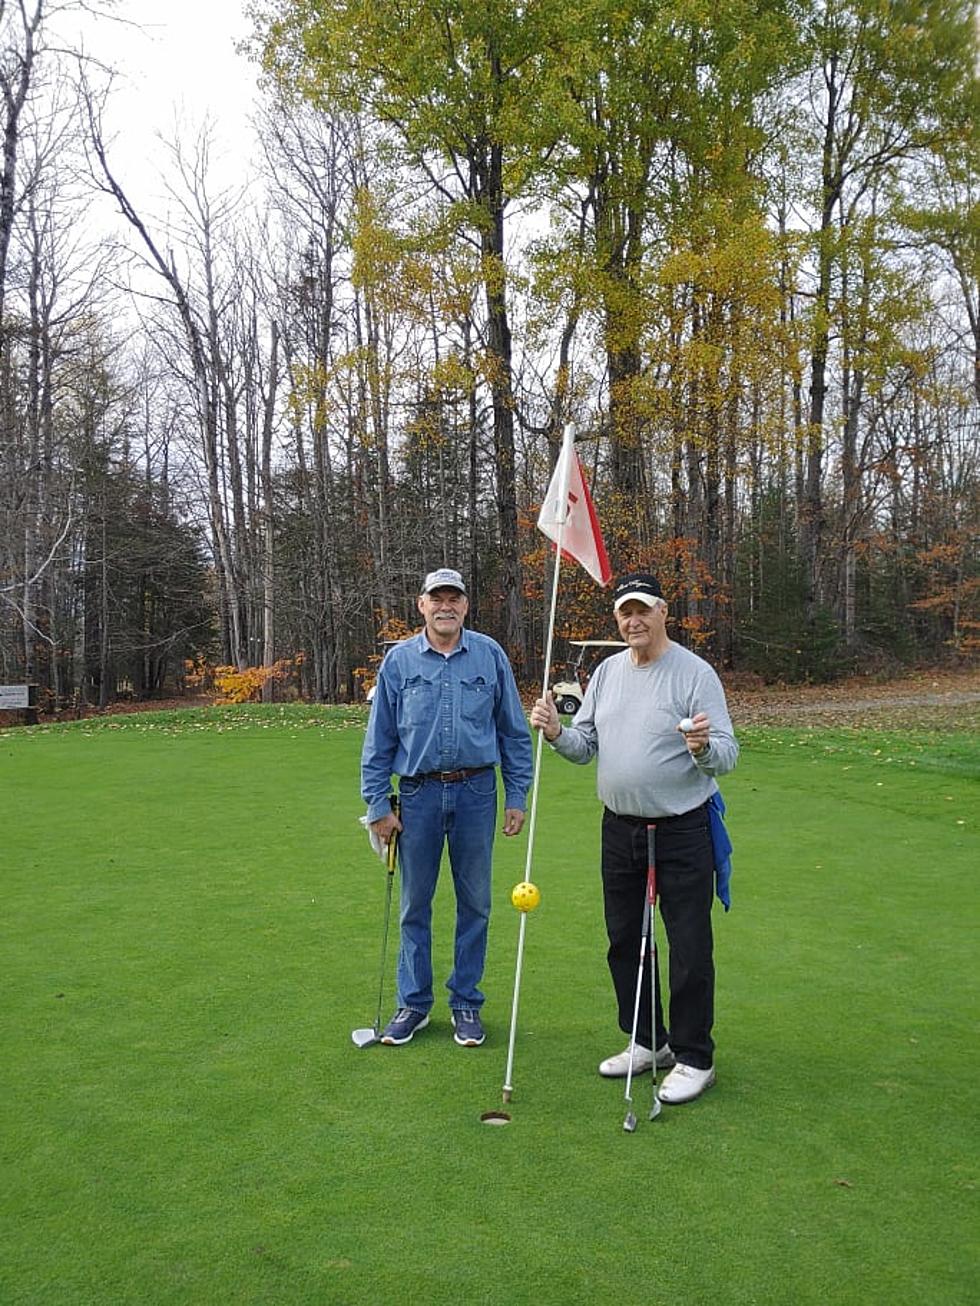
[[[647, 825], [656, 825], [657, 905], [670, 955], [670, 1029], [664, 1025], [656, 976], [656, 1038], [651, 1037], [649, 953], [640, 986], [636, 1041], [660, 1047], [669, 1040], [678, 1060], [707, 1070], [715, 1043], [715, 960], [711, 902], [715, 857], [706, 807], [647, 821], [602, 815], [602, 901], [609, 935], [609, 970], [619, 1007], [619, 1028], [632, 1029], [647, 889]], [[662, 934], [660, 935], [662, 944]]]

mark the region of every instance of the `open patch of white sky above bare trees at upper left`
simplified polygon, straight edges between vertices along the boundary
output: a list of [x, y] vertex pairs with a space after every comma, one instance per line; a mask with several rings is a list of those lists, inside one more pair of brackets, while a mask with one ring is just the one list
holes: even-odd
[[158, 135], [191, 145], [209, 116], [218, 184], [243, 180], [253, 155], [248, 116], [257, 68], [235, 51], [250, 35], [244, 0], [118, 0], [120, 20], [89, 18], [86, 51], [118, 69], [106, 112], [110, 162], [135, 199], [161, 195]]

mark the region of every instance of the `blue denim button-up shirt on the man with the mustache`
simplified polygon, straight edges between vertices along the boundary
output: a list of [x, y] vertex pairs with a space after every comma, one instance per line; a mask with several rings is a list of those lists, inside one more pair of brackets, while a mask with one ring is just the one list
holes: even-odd
[[523, 811], [533, 774], [531, 733], [500, 645], [464, 627], [448, 657], [425, 631], [389, 649], [361, 754], [367, 819], [391, 810], [392, 776], [497, 765], [504, 807]]

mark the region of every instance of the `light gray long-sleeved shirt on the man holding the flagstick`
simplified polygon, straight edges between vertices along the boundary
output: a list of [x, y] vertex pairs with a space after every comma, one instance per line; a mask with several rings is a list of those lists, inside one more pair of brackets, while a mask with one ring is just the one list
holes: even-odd
[[[704, 712], [711, 722], [708, 747], [687, 751], [677, 725]], [[725, 691], [713, 669], [679, 644], [647, 666], [630, 650], [596, 667], [575, 720], [551, 747], [568, 761], [596, 754], [598, 797], [619, 816], [677, 816], [717, 790], [738, 760]]]

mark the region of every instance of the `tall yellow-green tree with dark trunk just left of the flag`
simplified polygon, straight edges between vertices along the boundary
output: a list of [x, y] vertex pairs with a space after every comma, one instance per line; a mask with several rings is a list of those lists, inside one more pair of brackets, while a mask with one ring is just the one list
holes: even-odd
[[514, 359], [504, 225], [561, 133], [563, 8], [473, 0], [282, 4], [264, 33], [267, 67], [311, 102], [370, 110], [409, 166], [451, 205], [480, 249], [486, 384], [494, 417], [504, 640], [523, 657], [514, 443]]

